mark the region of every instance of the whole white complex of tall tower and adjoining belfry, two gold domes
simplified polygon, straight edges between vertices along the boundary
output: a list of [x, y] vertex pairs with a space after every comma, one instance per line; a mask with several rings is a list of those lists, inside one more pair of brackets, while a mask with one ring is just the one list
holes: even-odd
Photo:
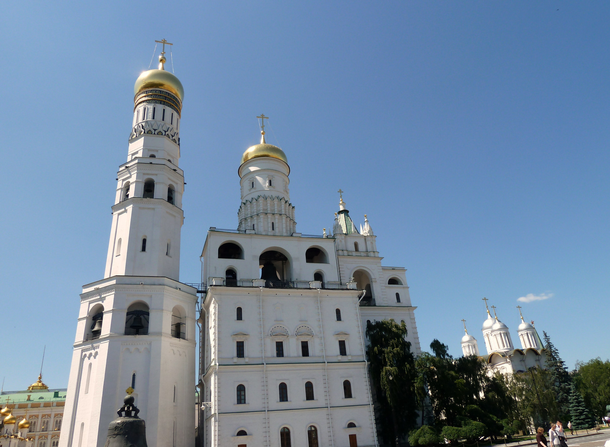
[[365, 330], [404, 321], [420, 354], [406, 269], [382, 265], [342, 191], [332, 233], [298, 232], [288, 157], [263, 122], [240, 162], [236, 228], [210, 227], [201, 283], [181, 282], [184, 90], [164, 54], [135, 83], [104, 279], [79, 299], [60, 447], [104, 445], [126, 392], [150, 447], [193, 447], [196, 434], [201, 446], [378, 446]]

